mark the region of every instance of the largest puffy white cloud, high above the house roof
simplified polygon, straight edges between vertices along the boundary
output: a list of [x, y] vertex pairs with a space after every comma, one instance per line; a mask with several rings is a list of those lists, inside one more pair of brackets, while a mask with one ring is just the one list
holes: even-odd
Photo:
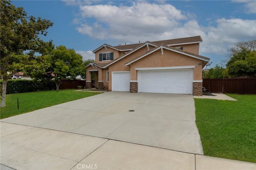
[[[149, 4], [133, 2], [132, 6], [94, 5], [80, 6], [83, 18], [96, 18], [92, 28], [82, 24], [78, 32], [101, 40], [112, 38], [128, 39], [131, 35], [155, 35], [178, 26], [176, 20], [186, 20], [187, 17], [170, 4]], [[101, 24], [108, 28], [103, 28]], [[93, 32], [89, 30], [94, 30]], [[122, 35], [122, 36], [120, 36]], [[136, 40], [137, 41], [137, 40]]]

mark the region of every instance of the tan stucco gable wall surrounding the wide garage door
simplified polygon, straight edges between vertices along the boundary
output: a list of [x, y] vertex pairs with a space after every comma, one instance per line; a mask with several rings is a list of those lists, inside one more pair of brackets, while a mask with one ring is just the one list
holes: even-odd
[[202, 63], [202, 61], [167, 49], [164, 49], [164, 55], [162, 55], [161, 49], [159, 49], [130, 65], [131, 80], [137, 80], [135, 68], [190, 65], [195, 65], [194, 80], [202, 80], [202, 65], [198, 65], [198, 63]]

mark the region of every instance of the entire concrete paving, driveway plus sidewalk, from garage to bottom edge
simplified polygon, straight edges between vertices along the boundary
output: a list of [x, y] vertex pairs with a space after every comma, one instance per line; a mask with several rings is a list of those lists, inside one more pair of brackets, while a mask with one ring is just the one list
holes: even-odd
[[194, 121], [190, 95], [108, 92], [63, 103], [1, 120], [0, 169], [255, 170], [202, 155]]

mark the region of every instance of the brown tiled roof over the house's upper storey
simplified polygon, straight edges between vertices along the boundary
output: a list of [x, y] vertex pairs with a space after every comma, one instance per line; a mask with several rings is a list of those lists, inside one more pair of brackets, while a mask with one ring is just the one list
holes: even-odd
[[[155, 41], [152, 43], [163, 43], [166, 45], [182, 45], [182, 44], [190, 44], [190, 43], [200, 43], [202, 42], [201, 36], [194, 36], [194, 37], [186, 37], [186, 38], [176, 38], [176, 39], [171, 39], [171, 40], [161, 40], [161, 41]], [[117, 45], [117, 46], [112, 46], [108, 44], [103, 44], [100, 47], [94, 49], [92, 52], [95, 53], [99, 49], [103, 47], [110, 47], [112, 49], [115, 49], [117, 51], [130, 51], [144, 43], [135, 43], [135, 44], [128, 44], [128, 45]]]

